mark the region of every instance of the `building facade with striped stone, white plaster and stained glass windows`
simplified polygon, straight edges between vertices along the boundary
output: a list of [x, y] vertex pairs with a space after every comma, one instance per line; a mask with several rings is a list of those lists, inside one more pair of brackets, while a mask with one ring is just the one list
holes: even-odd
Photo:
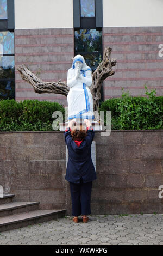
[[0, 0], [0, 99], [38, 99], [67, 106], [60, 94], [37, 94], [17, 67], [43, 81], [66, 81], [71, 58], [82, 54], [95, 70], [104, 48], [117, 59], [102, 101], [148, 89], [163, 94], [163, 2], [160, 0]]

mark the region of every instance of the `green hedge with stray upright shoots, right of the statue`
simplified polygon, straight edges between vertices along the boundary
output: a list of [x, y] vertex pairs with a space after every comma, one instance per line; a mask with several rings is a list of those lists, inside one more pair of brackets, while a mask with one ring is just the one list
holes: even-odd
[[[99, 111], [111, 111], [111, 130], [163, 129], [163, 96], [156, 97], [156, 89], [148, 97], [133, 97], [122, 88], [122, 97], [104, 101]], [[106, 126], [106, 114], [104, 120]]]

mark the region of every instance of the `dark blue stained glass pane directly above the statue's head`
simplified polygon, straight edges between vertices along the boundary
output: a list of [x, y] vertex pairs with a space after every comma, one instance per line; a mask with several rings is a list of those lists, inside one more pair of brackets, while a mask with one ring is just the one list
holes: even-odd
[[76, 52], [98, 52], [102, 51], [102, 31], [96, 29], [80, 29], [75, 31]]

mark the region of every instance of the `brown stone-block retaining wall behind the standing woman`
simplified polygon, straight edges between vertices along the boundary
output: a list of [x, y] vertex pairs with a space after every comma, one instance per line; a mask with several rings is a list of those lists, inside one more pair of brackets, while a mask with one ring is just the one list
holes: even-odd
[[[163, 131], [95, 131], [96, 172], [92, 214], [163, 212]], [[40, 202], [40, 209], [67, 209], [64, 132], [0, 132], [0, 185], [15, 201]]]

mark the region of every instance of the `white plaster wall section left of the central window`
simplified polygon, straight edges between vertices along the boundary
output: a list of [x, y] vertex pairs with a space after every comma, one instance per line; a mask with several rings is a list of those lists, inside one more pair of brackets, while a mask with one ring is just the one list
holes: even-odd
[[73, 0], [15, 0], [15, 29], [73, 28]]

